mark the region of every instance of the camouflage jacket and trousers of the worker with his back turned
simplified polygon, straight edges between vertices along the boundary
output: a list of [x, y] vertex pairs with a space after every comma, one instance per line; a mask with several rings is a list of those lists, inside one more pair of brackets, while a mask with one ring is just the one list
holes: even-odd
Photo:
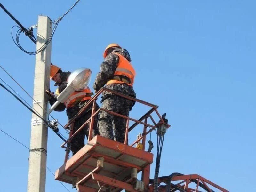
[[[97, 74], [96, 79], [93, 84], [93, 89], [95, 91], [100, 90], [109, 80], [113, 79], [117, 64], [119, 62], [119, 56], [113, 54], [114, 52], [123, 55], [129, 62], [131, 62], [130, 54], [126, 49], [115, 49], [112, 53], [108, 54], [104, 62], [100, 65], [100, 72]], [[109, 84], [106, 88], [135, 97], [132, 86], [125, 83], [123, 84]], [[114, 93], [104, 91], [102, 108], [122, 114], [124, 116], [129, 116], [129, 111], [132, 110], [132, 106], [135, 102], [131, 100], [119, 97]], [[100, 135], [112, 140], [116, 140], [124, 143], [126, 119], [113, 116], [107, 112], [100, 111], [99, 113], [99, 132]], [[113, 126], [114, 125], [114, 126]], [[113, 130], [115, 134], [113, 133]]]

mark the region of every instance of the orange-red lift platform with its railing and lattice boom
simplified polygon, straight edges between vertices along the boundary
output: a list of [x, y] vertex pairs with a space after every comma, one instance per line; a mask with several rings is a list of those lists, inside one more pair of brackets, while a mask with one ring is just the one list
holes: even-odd
[[[96, 109], [96, 100], [103, 91], [112, 92], [120, 97], [141, 103], [148, 106], [150, 109], [138, 120], [103, 108]], [[73, 124], [76, 118], [91, 105], [92, 116], [84, 122], [76, 132], [73, 132]], [[109, 90], [105, 87], [101, 88], [76, 114], [76, 116], [74, 116], [68, 124], [65, 125], [65, 128], [67, 129], [70, 127], [69, 138], [61, 145], [62, 148], [66, 148], [66, 155], [64, 164], [55, 172], [55, 179], [72, 184], [72, 186], [76, 187], [79, 192], [116, 192], [122, 191], [123, 189], [131, 192], [153, 192], [163, 190], [200, 192], [198, 187], [209, 192], [214, 192], [207, 186], [207, 184], [220, 189], [220, 191], [228, 192], [224, 188], [221, 188], [199, 175], [182, 175], [178, 173], [173, 173], [168, 177], [159, 177], [156, 180], [158, 186], [154, 188], [154, 180], [149, 179], [150, 165], [153, 163], [153, 154], [145, 151], [146, 136], [155, 129], [162, 129], [166, 132], [166, 129], [170, 127], [170, 125], [167, 124], [165, 117], [158, 113], [157, 108], [158, 106], [143, 100]], [[92, 138], [94, 116], [98, 114], [100, 110], [126, 119], [124, 143], [110, 140], [99, 135]], [[153, 118], [152, 113], [154, 112], [154, 115], [157, 116], [157, 121]], [[149, 124], [148, 120], [150, 120], [152, 124]], [[130, 127], [129, 121], [134, 122]], [[86, 124], [89, 124], [88, 143], [69, 159], [69, 143], [77, 132], [81, 131]], [[132, 131], [132, 129], [139, 124], [142, 124], [143, 126], [142, 134], [139, 135], [137, 140], [135, 140], [131, 145], [128, 145], [128, 132]], [[137, 174], [139, 172], [142, 172], [141, 180], [137, 179]], [[171, 181], [178, 180], [180, 183], [171, 183]], [[188, 187], [191, 182], [196, 183], [195, 189]], [[160, 183], [165, 183], [166, 185], [160, 185]]]

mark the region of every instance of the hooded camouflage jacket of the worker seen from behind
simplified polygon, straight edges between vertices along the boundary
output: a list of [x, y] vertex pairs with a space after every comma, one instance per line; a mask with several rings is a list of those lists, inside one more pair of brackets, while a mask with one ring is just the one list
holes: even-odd
[[[109, 80], [113, 79], [117, 64], [119, 62], [119, 56], [114, 53], [119, 53], [123, 55], [129, 62], [131, 62], [131, 57], [126, 49], [115, 49], [112, 53], [108, 54], [105, 60], [100, 65], [100, 72], [97, 74], [96, 79], [93, 84], [93, 89], [99, 91]], [[136, 97], [136, 93], [133, 88], [125, 83], [123, 84], [109, 84], [106, 88]], [[106, 98], [109, 95], [113, 95], [110, 92], [103, 92], [103, 97]]]

